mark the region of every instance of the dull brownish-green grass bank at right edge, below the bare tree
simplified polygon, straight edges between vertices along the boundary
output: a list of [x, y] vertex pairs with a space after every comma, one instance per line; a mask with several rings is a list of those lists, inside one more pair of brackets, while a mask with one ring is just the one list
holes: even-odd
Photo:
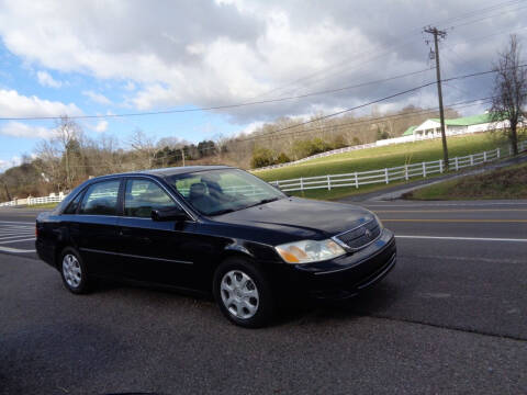
[[404, 195], [412, 200], [527, 199], [527, 163], [439, 182]]

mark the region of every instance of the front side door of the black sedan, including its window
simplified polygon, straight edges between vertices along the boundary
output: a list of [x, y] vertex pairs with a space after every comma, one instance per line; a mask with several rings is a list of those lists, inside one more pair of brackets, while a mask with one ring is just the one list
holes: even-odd
[[119, 219], [120, 253], [126, 278], [193, 287], [194, 222], [153, 221], [152, 210], [182, 210], [154, 179], [127, 178], [123, 216]]

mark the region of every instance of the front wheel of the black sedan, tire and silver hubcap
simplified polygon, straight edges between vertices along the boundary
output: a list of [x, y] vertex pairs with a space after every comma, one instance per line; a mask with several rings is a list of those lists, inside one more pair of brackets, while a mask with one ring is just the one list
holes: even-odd
[[214, 273], [213, 293], [223, 315], [238, 326], [259, 328], [271, 321], [273, 295], [257, 263], [227, 258]]

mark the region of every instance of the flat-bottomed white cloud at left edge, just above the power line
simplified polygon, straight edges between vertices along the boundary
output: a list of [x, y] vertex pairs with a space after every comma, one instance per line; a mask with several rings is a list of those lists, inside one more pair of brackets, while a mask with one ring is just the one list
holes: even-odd
[[74, 103], [25, 97], [15, 90], [0, 89], [0, 117], [80, 115], [82, 111]]

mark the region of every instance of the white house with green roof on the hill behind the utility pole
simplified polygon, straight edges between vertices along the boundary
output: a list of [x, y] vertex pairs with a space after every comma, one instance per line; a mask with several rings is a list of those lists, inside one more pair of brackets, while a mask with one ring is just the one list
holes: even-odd
[[[490, 113], [464, 116], [453, 120], [445, 120], [445, 132], [449, 136], [486, 132], [490, 129], [505, 127], [508, 127], [507, 120], [493, 122]], [[421, 125], [411, 126], [403, 133], [403, 136], [413, 136], [415, 139], [434, 138], [439, 137], [440, 135], [441, 123], [439, 119], [426, 120]]]

